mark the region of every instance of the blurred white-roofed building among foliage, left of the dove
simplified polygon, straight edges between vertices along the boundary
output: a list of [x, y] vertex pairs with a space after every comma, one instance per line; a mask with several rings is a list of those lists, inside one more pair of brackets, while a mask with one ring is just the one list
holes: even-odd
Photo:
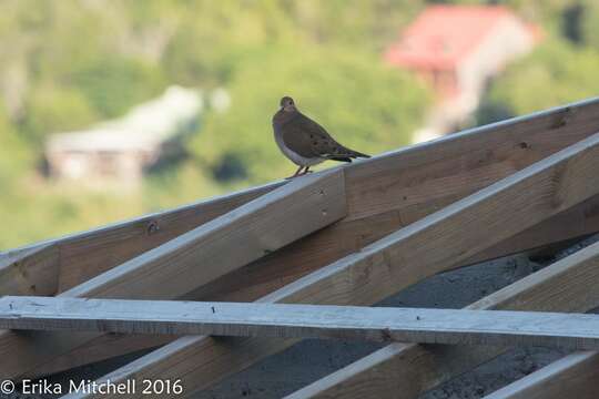
[[171, 86], [121, 119], [84, 131], [53, 134], [45, 145], [50, 174], [92, 183], [134, 183], [148, 167], [181, 154], [181, 139], [197, 129], [202, 110], [197, 91]]

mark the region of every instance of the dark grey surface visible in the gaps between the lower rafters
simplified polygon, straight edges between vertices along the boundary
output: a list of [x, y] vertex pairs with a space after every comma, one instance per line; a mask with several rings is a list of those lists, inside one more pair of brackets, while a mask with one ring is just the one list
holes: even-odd
[[[519, 255], [444, 273], [387, 298], [379, 306], [460, 308], [538, 270], [557, 258], [580, 249], [596, 239], [589, 238], [555, 256], [536, 262]], [[260, 361], [235, 376], [224, 379], [213, 389], [196, 393], [193, 398], [280, 398], [359, 359], [378, 347], [376, 344], [368, 342], [305, 340], [281, 354]], [[471, 372], [425, 393], [423, 398], [481, 398], [486, 393], [544, 367], [562, 355], [545, 348], [511, 350]], [[120, 365], [126, 364], [136, 356], [140, 356], [140, 354], [85, 366], [54, 376], [50, 381], [64, 382], [70, 378], [93, 379]], [[55, 397], [58, 396], [0, 395], [0, 399]]]

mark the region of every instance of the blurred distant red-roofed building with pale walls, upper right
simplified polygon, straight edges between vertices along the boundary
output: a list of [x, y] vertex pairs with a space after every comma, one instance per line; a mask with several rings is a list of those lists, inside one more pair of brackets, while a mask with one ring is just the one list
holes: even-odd
[[417, 73], [437, 94], [427, 133], [461, 123], [489, 78], [532, 49], [539, 29], [500, 6], [432, 6], [390, 45], [385, 59]]

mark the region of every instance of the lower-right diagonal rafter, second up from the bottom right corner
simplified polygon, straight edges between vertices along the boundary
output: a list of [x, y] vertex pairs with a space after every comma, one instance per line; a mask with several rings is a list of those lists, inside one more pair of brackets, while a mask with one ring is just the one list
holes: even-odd
[[[467, 308], [588, 311], [599, 306], [599, 291], [593, 289], [597, 285], [599, 243]], [[288, 398], [417, 398], [438, 383], [466, 372], [507, 349], [393, 344], [306, 386]]]

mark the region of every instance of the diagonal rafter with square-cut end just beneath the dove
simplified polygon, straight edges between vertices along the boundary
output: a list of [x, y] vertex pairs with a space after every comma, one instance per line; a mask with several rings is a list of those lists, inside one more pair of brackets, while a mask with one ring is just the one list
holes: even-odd
[[[342, 170], [297, 178], [60, 296], [175, 298], [345, 215]], [[2, 331], [0, 375], [20, 376], [97, 336]]]

